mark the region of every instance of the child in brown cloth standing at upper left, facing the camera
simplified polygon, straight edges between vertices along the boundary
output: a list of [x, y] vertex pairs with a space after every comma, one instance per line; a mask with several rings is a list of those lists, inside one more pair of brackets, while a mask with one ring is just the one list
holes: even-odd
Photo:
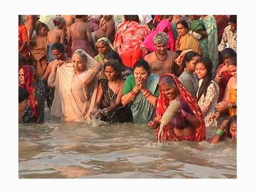
[[36, 23], [36, 37], [32, 37], [29, 47], [33, 64], [36, 66], [39, 78], [44, 76], [47, 67], [47, 32], [48, 27], [42, 22]]

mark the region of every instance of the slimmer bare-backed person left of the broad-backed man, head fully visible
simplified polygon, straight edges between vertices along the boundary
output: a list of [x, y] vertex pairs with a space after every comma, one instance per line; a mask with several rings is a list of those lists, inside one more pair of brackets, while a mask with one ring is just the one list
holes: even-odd
[[54, 23], [55, 27], [47, 34], [47, 55], [49, 62], [55, 60], [55, 58], [52, 55], [52, 45], [54, 43], [64, 44], [66, 37], [66, 32], [64, 31], [66, 23], [65, 19], [61, 16], [56, 16], [56, 18], [53, 19], [52, 22]]

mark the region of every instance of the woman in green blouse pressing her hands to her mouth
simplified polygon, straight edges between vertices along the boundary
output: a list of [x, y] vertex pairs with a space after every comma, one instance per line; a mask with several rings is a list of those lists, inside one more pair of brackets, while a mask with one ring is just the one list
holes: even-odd
[[159, 76], [150, 73], [148, 62], [141, 59], [134, 65], [134, 74], [127, 77], [123, 96], [123, 106], [131, 103], [134, 123], [148, 123], [154, 116]]

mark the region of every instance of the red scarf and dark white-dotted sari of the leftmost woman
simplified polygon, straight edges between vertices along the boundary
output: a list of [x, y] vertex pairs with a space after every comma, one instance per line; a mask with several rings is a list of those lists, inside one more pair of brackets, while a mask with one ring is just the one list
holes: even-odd
[[24, 72], [25, 84], [19, 86], [28, 91], [28, 106], [24, 111], [22, 122], [44, 122], [45, 89], [42, 80], [39, 80], [36, 70], [31, 65], [20, 67]]

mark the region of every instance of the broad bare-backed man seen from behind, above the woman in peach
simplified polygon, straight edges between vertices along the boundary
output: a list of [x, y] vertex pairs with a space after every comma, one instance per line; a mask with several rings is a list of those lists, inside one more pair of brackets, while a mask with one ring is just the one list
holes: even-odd
[[84, 49], [93, 57], [94, 43], [90, 26], [86, 23], [87, 15], [76, 15], [76, 22], [69, 27], [68, 44], [71, 45], [72, 53], [76, 49]]

